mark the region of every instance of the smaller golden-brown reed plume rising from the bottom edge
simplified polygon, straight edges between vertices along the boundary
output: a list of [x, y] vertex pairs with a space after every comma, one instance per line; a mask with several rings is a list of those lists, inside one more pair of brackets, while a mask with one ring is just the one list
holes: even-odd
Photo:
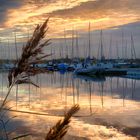
[[59, 120], [55, 126], [53, 126], [45, 140], [61, 140], [64, 135], [67, 133], [68, 131], [68, 127], [69, 127], [69, 123], [70, 123], [70, 119], [71, 117], [78, 112], [80, 109], [79, 105], [74, 105], [65, 115], [64, 115], [64, 119], [63, 120]]

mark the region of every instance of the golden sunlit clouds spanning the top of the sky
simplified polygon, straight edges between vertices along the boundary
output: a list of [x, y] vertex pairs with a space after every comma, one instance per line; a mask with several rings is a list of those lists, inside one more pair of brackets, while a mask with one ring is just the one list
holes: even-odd
[[89, 21], [95, 30], [140, 20], [138, 0], [27, 0], [20, 7], [21, 3], [14, 3], [9, 2], [9, 9], [4, 8], [7, 9], [5, 27], [26, 29], [50, 15], [50, 32], [56, 37], [62, 34], [64, 28], [72, 30], [73, 26], [80, 32], [85, 31]]

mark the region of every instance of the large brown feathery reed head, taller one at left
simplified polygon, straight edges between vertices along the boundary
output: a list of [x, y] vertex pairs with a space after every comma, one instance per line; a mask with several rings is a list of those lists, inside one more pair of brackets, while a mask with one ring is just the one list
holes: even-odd
[[[22, 49], [21, 58], [19, 58], [8, 75], [9, 86], [14, 82], [16, 84], [31, 83], [30, 76], [34, 76], [38, 73], [44, 72], [40, 68], [36, 68], [33, 65], [43, 62], [44, 58], [51, 54], [44, 54], [43, 48], [50, 44], [50, 40], [42, 41], [48, 30], [47, 19], [43, 24], [37, 25], [32, 37], [27, 41], [26, 45]], [[35, 84], [34, 84], [35, 85]]]

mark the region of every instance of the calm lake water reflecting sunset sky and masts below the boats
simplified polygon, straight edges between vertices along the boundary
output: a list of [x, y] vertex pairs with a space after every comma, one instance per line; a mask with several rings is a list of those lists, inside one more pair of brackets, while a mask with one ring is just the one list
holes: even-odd
[[[7, 92], [7, 73], [0, 73], [1, 100]], [[139, 139], [140, 80], [122, 77], [87, 77], [73, 73], [45, 73], [32, 79], [40, 88], [19, 85], [9, 96], [10, 115], [20, 127], [44, 136], [74, 104], [80, 111], [72, 119], [65, 139]], [[22, 133], [21, 131], [21, 133]]]

